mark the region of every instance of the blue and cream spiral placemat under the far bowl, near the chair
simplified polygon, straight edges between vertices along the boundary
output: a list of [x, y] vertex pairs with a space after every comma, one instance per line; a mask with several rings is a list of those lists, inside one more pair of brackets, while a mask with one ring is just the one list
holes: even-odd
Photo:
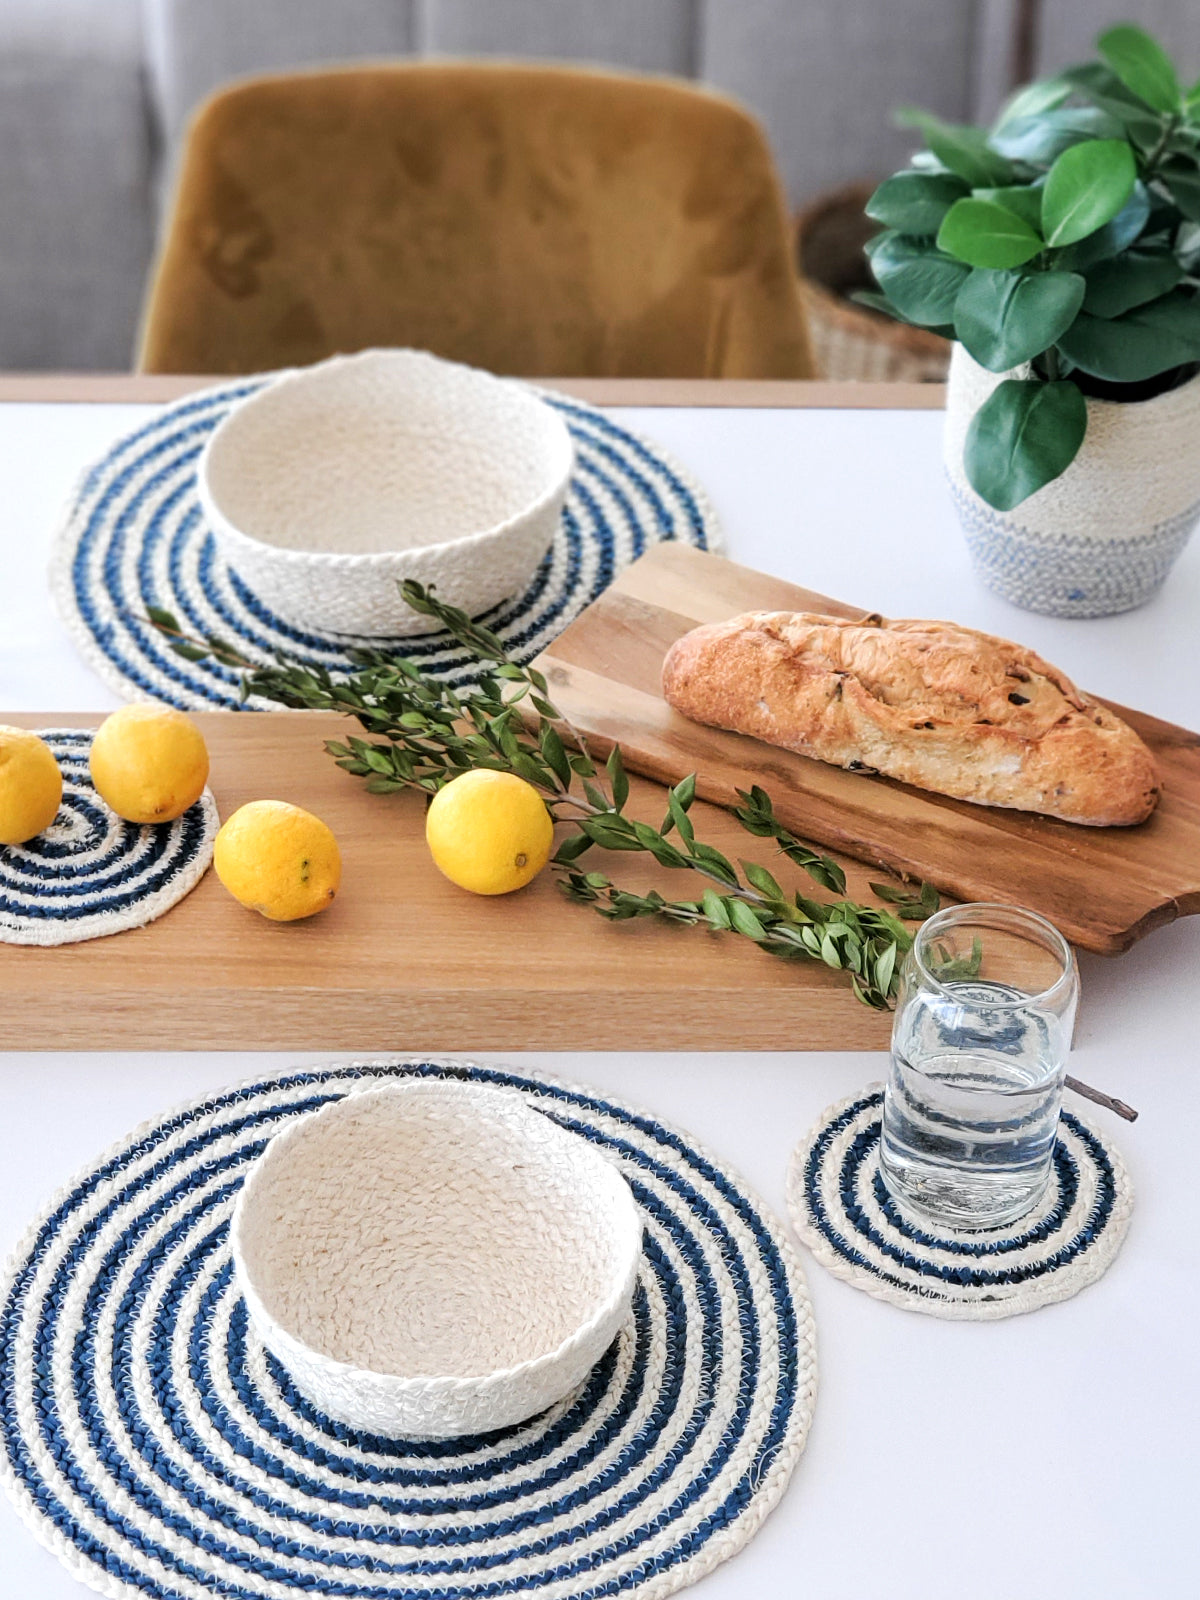
[[[200, 451], [222, 416], [266, 379], [192, 395], [118, 440], [82, 478], [51, 560], [54, 603], [88, 664], [118, 694], [162, 699], [184, 710], [238, 707], [238, 675], [213, 661], [174, 654], [147, 621], [162, 606], [189, 632], [218, 634], [251, 661], [277, 654], [349, 670], [347, 646], [376, 640], [314, 634], [274, 616], [222, 560], [197, 496]], [[576, 464], [562, 523], [530, 589], [486, 618], [514, 659], [531, 661], [651, 544], [718, 546], [714, 514], [656, 445], [595, 406], [544, 394], [562, 411]], [[395, 648], [450, 683], [472, 664], [446, 635]], [[250, 699], [250, 709], [272, 709]], [[277, 709], [277, 707], [274, 707]]]

